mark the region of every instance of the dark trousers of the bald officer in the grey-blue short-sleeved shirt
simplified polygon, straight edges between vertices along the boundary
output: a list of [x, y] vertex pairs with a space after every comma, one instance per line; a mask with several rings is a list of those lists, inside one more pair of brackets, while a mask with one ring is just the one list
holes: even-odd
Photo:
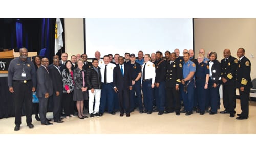
[[[185, 83], [187, 84], [187, 82]], [[192, 111], [194, 104], [194, 89], [195, 89], [195, 81], [194, 79], [187, 86], [187, 92], [184, 92], [184, 85], [181, 85], [181, 95], [182, 101], [184, 104], [184, 110]]]

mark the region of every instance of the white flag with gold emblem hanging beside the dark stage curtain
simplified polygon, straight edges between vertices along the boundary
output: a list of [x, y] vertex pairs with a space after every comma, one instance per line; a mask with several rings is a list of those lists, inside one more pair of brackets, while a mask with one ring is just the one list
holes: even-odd
[[59, 49], [63, 47], [62, 33], [63, 33], [62, 24], [60, 19], [57, 18], [55, 23], [55, 49], [54, 49], [55, 54], [58, 53]]

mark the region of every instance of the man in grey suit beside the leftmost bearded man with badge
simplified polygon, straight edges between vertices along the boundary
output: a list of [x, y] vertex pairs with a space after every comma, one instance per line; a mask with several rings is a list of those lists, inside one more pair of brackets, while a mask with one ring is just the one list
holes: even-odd
[[42, 125], [52, 125], [47, 118], [48, 99], [53, 93], [52, 79], [49, 75], [48, 58], [42, 58], [42, 65], [37, 69], [36, 95], [39, 99], [39, 113]]

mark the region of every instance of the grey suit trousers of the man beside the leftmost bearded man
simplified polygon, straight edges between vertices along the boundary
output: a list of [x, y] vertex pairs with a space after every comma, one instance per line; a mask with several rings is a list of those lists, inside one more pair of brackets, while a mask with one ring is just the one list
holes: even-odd
[[45, 97], [38, 97], [39, 99], [39, 114], [40, 114], [40, 120], [42, 124], [47, 123], [46, 113], [47, 113], [47, 107], [48, 107], [48, 100], [49, 98]]

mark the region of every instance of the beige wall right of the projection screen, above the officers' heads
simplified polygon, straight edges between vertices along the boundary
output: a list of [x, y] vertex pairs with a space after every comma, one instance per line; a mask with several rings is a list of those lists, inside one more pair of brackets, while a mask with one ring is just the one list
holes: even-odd
[[194, 19], [194, 36], [195, 55], [204, 48], [206, 53], [215, 51], [219, 61], [224, 49], [237, 57], [238, 48], [244, 48], [251, 61], [251, 78], [256, 78], [256, 19]]

